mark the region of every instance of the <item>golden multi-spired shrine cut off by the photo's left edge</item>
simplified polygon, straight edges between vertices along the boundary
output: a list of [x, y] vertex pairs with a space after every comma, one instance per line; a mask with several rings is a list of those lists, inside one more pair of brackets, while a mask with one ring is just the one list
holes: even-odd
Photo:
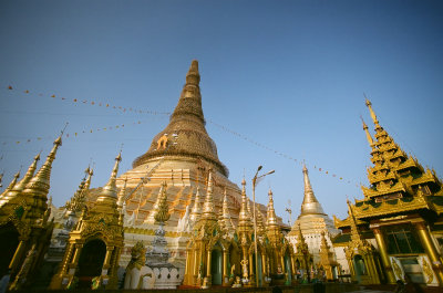
[[61, 144], [60, 136], [39, 171], [34, 175], [40, 159], [37, 155], [23, 178], [17, 182], [16, 176], [1, 196], [0, 270], [2, 274], [11, 270], [10, 290], [23, 289], [34, 281], [33, 271], [41, 264], [48, 249], [54, 227], [49, 221], [48, 192], [52, 163]]

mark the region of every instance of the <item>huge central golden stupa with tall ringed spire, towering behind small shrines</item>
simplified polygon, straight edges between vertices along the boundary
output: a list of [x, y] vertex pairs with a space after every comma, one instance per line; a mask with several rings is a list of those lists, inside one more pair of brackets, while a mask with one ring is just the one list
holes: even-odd
[[[148, 150], [134, 160], [133, 169], [117, 178], [119, 189], [126, 184], [122, 266], [130, 261], [131, 248], [137, 241], [150, 244], [154, 239], [154, 214], [164, 181], [171, 212], [164, 229], [173, 264], [179, 268], [185, 265], [186, 241], [193, 223], [200, 217], [198, 206], [203, 205], [206, 195], [209, 170], [214, 180], [216, 213], [222, 212], [226, 192], [229, 214], [234, 223], [238, 221], [241, 192], [227, 178], [228, 169], [218, 159], [217, 147], [206, 132], [199, 81], [198, 62], [194, 60], [169, 124], [154, 137]], [[91, 190], [89, 200], [94, 200], [100, 190]], [[260, 209], [266, 211], [264, 206]]]

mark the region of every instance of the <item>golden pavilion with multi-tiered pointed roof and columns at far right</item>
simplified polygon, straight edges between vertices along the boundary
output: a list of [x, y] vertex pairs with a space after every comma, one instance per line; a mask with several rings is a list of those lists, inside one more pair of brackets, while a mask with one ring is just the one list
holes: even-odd
[[[333, 239], [334, 245], [351, 248], [358, 234], [377, 245], [382, 273], [377, 278], [371, 264], [360, 262], [351, 270], [352, 278], [368, 282], [395, 283], [409, 275], [415, 283], [443, 285], [443, 190], [434, 170], [424, 169], [416, 158], [405, 154], [380, 126], [370, 101], [365, 101], [375, 126], [374, 138], [363, 122], [371, 147], [372, 167], [368, 169], [369, 187], [362, 187], [364, 198], [349, 203], [344, 220], [334, 218], [343, 234]], [[440, 243], [440, 248], [439, 244]], [[354, 253], [349, 266], [356, 265]], [[375, 263], [377, 266], [377, 263]], [[362, 274], [367, 272], [367, 275]]]

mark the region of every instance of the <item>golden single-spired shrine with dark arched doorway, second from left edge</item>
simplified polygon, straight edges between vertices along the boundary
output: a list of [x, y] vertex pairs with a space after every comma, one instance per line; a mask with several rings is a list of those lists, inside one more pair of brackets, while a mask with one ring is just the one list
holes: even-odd
[[119, 154], [111, 178], [96, 200], [83, 207], [50, 289], [91, 287], [91, 283], [95, 287], [116, 289], [123, 249], [123, 213], [115, 185], [121, 159]]

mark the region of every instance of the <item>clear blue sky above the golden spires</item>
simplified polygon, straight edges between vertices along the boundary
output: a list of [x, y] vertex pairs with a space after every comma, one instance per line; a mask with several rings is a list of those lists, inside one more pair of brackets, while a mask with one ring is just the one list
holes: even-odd
[[122, 143], [121, 172], [130, 169], [167, 115], [90, 102], [172, 112], [197, 59], [206, 127], [230, 180], [250, 182], [258, 165], [276, 169], [257, 199], [266, 203], [271, 187], [278, 214], [288, 218], [290, 199], [295, 218], [305, 159], [324, 210], [344, 217], [347, 196], [362, 198], [358, 186], [368, 185], [360, 115], [373, 125], [363, 92], [395, 142], [443, 174], [442, 12], [440, 1], [1, 1], [3, 185], [35, 153], [47, 156], [65, 122], [71, 135], [51, 178], [56, 206], [91, 160], [92, 186], [104, 185]]

